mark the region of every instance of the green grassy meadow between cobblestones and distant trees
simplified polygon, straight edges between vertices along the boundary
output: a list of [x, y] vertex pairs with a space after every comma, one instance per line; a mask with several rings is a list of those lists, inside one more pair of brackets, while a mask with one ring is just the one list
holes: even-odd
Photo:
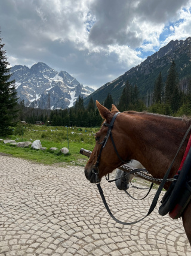
[[[46, 127], [29, 125], [26, 127], [13, 128], [13, 135], [0, 137], [19, 141], [40, 140], [42, 147], [47, 150], [34, 150], [11, 146], [10, 144], [0, 143], [0, 152], [7, 153], [14, 157], [28, 159], [42, 164], [76, 164], [84, 166], [88, 161], [87, 156], [81, 155], [79, 150], [83, 147], [93, 150], [95, 145], [94, 134], [99, 128], [66, 128], [66, 127]], [[60, 153], [62, 147], [68, 147], [67, 134], [69, 140], [69, 154]], [[32, 140], [31, 140], [32, 139]], [[57, 147], [58, 150], [51, 151], [50, 147]]]

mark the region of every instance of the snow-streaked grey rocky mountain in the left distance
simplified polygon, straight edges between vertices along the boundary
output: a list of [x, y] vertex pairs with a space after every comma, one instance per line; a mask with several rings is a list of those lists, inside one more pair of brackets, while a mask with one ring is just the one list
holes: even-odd
[[82, 95], [83, 98], [94, 92], [84, 87], [66, 71], [59, 73], [45, 63], [39, 62], [31, 68], [16, 65], [11, 68], [16, 80], [17, 96], [24, 104], [41, 109], [66, 109]]

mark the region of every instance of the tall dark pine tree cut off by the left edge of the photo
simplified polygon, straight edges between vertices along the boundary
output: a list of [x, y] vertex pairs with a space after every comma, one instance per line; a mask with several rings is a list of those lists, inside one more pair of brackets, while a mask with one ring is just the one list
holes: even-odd
[[6, 50], [2, 44], [0, 32], [0, 134], [11, 134], [11, 126], [16, 125], [19, 109], [17, 108], [17, 92], [14, 86], [15, 80], [10, 80], [9, 62], [6, 57]]

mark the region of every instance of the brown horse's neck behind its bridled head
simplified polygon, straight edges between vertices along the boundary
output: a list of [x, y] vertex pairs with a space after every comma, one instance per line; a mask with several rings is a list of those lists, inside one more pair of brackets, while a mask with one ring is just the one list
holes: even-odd
[[[152, 115], [142, 116], [138, 119], [131, 118], [128, 132], [131, 129], [131, 140], [134, 143], [133, 159], [140, 161], [154, 177], [162, 178], [170, 166], [189, 124], [181, 119], [164, 118], [163, 116], [159, 121], [152, 118]], [[178, 170], [185, 147], [185, 145], [182, 147], [175, 159], [170, 173], [171, 177]]]

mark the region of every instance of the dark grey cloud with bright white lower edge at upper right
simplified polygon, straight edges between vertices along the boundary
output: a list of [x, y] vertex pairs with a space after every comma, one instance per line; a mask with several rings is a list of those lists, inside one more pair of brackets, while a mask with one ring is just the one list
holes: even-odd
[[96, 23], [91, 28], [89, 40], [96, 46], [119, 44], [135, 49], [153, 34], [159, 37], [164, 25], [176, 19], [178, 10], [187, 2], [98, 0], [91, 6]]

